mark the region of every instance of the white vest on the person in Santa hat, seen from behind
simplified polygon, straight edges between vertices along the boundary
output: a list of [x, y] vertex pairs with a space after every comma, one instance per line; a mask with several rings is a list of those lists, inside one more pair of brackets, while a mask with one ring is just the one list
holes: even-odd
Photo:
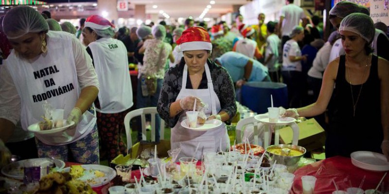
[[120, 113], [129, 109], [132, 87], [128, 71], [127, 50], [122, 41], [100, 38], [88, 46], [92, 52], [94, 67], [100, 83], [98, 94], [101, 113]]

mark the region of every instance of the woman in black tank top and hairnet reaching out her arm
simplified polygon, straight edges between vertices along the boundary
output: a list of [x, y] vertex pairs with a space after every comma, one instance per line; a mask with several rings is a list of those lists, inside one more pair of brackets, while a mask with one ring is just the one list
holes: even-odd
[[366, 14], [350, 14], [340, 23], [339, 34], [346, 55], [325, 69], [318, 100], [288, 109], [284, 116], [315, 116], [330, 103], [327, 158], [373, 151], [389, 161], [389, 62], [372, 54], [373, 21]]

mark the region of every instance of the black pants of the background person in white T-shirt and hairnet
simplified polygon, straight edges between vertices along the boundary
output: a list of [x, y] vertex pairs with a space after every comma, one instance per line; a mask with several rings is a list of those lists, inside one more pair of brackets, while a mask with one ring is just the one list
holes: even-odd
[[301, 107], [303, 96], [303, 76], [301, 71], [281, 71], [283, 75], [283, 82], [288, 88], [289, 107], [297, 108]]

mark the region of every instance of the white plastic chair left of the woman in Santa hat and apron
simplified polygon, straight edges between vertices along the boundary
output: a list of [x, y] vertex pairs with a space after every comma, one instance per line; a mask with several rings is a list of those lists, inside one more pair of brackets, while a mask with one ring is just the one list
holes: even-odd
[[[157, 112], [156, 107], [147, 107], [147, 108], [141, 108], [137, 110], [133, 110], [129, 113], [127, 113], [124, 117], [124, 127], [125, 127], [125, 133], [127, 136], [127, 148], [132, 147], [132, 140], [131, 140], [131, 129], [130, 129], [130, 121], [132, 118], [141, 116], [141, 125], [142, 125], [142, 140], [146, 141], [146, 114], [151, 114], [151, 141], [155, 142], [155, 118]], [[164, 132], [165, 132], [165, 121], [161, 119], [160, 123], [160, 140], [163, 140]]]

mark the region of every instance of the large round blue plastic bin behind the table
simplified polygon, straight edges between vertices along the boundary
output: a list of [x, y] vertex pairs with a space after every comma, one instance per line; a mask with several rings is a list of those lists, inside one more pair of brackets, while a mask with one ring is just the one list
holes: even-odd
[[279, 82], [248, 82], [242, 86], [242, 105], [256, 113], [267, 113], [271, 107], [270, 95], [273, 95], [274, 107], [288, 108], [288, 89]]

